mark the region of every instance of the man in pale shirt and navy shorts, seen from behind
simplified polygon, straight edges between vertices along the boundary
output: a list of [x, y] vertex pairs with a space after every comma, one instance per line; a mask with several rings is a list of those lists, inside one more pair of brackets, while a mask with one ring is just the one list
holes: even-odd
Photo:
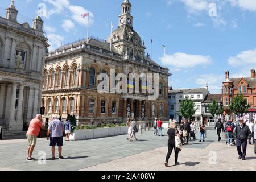
[[55, 146], [57, 144], [59, 151], [59, 159], [64, 159], [62, 154], [62, 146], [63, 146], [63, 131], [64, 125], [61, 122], [57, 115], [52, 116], [52, 122], [49, 124], [47, 140], [50, 137], [50, 146], [52, 147], [52, 160], [55, 160]]

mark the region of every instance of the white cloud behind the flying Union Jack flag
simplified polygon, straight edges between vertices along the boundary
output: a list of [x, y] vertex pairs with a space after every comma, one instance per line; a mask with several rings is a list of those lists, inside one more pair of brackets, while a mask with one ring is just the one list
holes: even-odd
[[81, 14], [83, 14], [83, 13], [89, 13], [89, 25], [94, 22], [93, 13], [84, 9], [84, 7], [71, 5], [71, 6], [69, 6], [69, 10], [72, 13], [73, 20], [75, 20], [77, 23], [81, 24], [82, 26], [88, 25], [88, 20], [87, 20], [88, 18], [87, 17], [82, 18], [82, 16], [81, 16]]

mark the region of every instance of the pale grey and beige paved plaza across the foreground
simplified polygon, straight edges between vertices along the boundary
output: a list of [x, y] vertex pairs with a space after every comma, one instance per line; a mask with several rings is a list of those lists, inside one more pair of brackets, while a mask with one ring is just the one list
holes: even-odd
[[[45, 138], [38, 139], [33, 157], [39, 159], [46, 152], [46, 164], [27, 162], [27, 140], [0, 141], [0, 170], [39, 171], [187, 171], [187, 170], [255, 170], [254, 146], [247, 147], [247, 160], [238, 160], [235, 146], [226, 146], [225, 140], [217, 142], [216, 131], [208, 130], [206, 142], [197, 140], [183, 146], [179, 153], [179, 166], [174, 166], [174, 154], [164, 167], [167, 154], [167, 130], [164, 137], [150, 131], [137, 133], [137, 142], [128, 142], [126, 135], [117, 137], [64, 142], [63, 160], [51, 160], [51, 147]], [[57, 150], [56, 150], [57, 151]], [[56, 156], [57, 152], [56, 152]]]

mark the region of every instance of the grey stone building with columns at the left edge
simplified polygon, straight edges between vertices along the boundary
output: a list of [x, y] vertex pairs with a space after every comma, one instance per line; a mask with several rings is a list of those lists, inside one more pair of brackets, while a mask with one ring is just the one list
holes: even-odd
[[17, 22], [11, 1], [6, 17], [0, 17], [0, 126], [22, 131], [39, 113], [42, 71], [46, 49], [43, 20], [36, 16], [32, 28]]

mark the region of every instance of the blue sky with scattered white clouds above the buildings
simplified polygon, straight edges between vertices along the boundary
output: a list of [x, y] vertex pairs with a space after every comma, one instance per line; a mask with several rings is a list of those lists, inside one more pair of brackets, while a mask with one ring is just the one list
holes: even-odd
[[[133, 27], [146, 43], [146, 53], [169, 68], [174, 89], [204, 88], [221, 93], [225, 71], [230, 77], [250, 77], [256, 69], [256, 0], [129, 0]], [[10, 0], [0, 0], [0, 16]], [[36, 17], [38, 7], [44, 30], [54, 50], [89, 35], [106, 39], [110, 24], [118, 26], [123, 0], [16, 0], [18, 22]], [[113, 30], [114, 30], [113, 29]], [[152, 39], [152, 44], [151, 44]], [[166, 46], [164, 55], [163, 45]], [[151, 49], [152, 47], [152, 49]]]

